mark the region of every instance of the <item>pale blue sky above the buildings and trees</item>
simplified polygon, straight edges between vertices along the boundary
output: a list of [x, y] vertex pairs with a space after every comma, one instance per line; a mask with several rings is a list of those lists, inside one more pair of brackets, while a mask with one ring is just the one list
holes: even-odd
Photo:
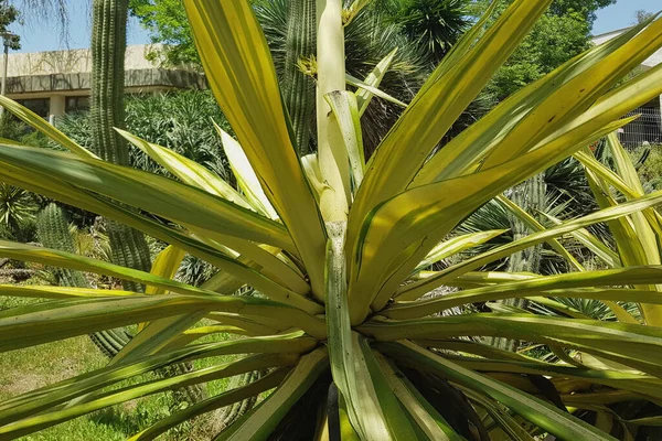
[[[20, 4], [20, 2], [17, 2]], [[28, 20], [24, 25], [14, 24], [11, 31], [21, 35], [22, 49], [20, 52], [54, 51], [65, 47], [89, 46], [89, 0], [67, 0], [70, 11], [68, 44], [60, 37], [57, 21], [47, 19], [41, 21]], [[629, 26], [634, 22], [634, 11], [644, 9], [656, 11], [662, 8], [660, 0], [618, 0], [616, 4], [598, 12], [598, 20], [594, 26], [595, 34], [601, 34], [616, 29]], [[51, 14], [52, 15], [52, 14]], [[130, 21], [129, 44], [149, 42], [147, 31], [140, 28], [135, 20]]]

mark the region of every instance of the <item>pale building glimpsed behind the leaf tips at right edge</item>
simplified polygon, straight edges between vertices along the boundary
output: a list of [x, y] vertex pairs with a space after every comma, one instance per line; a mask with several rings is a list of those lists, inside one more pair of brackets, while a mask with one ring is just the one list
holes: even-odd
[[[592, 37], [594, 44], [601, 44], [617, 37], [630, 28], [619, 29]], [[648, 71], [662, 64], [662, 49], [641, 63], [639, 69]], [[620, 140], [626, 147], [638, 147], [642, 143], [662, 144], [662, 96], [651, 99], [631, 115], [641, 115], [636, 121], [626, 126], [620, 132]]]

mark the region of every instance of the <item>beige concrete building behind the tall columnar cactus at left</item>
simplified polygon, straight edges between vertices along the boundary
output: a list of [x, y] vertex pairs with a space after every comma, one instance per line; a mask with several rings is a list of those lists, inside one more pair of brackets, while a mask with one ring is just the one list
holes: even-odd
[[[127, 93], [206, 87], [204, 75], [185, 67], [158, 67], [148, 54], [158, 45], [131, 45], [125, 58]], [[89, 107], [92, 54], [88, 49], [10, 54], [7, 96], [52, 121]]]

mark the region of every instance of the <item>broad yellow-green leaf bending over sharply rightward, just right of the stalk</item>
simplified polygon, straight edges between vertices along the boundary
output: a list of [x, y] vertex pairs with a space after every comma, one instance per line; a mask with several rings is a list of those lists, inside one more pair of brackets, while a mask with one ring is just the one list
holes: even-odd
[[[617, 121], [613, 126], [624, 122]], [[575, 133], [581, 142], [569, 135], [562, 136], [508, 163], [408, 190], [375, 208], [364, 222], [356, 256], [350, 267], [350, 292], [360, 293], [354, 300], [352, 323], [357, 324], [367, 315], [367, 303], [373, 310], [385, 304], [429, 252], [431, 245], [468, 214], [501, 191], [567, 157], [585, 142], [612, 131], [613, 126], [585, 135], [581, 130], [592, 128], [584, 127], [579, 129], [580, 133]]]

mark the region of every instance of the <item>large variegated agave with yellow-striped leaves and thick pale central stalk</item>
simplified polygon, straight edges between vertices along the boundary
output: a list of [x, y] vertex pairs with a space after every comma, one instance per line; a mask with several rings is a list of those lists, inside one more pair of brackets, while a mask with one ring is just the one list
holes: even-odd
[[[616, 86], [662, 46], [662, 20], [651, 19], [569, 61], [433, 154], [551, 3], [515, 0], [496, 20], [485, 17], [465, 35], [366, 163], [361, 115], [378, 93], [388, 63], [377, 66], [356, 93], [346, 90], [343, 21], [365, 1], [343, 11], [340, 0], [318, 0], [319, 151], [301, 160], [249, 1], [184, 3], [210, 85], [237, 137], [221, 133], [239, 190], [129, 133], [122, 135], [178, 180], [103, 162], [1, 98], [8, 110], [71, 152], [6, 142], [0, 146], [0, 180], [126, 223], [170, 246], [146, 273], [0, 243], [1, 256], [148, 287], [145, 294], [0, 288], [2, 295], [52, 299], [0, 313], [1, 351], [146, 323], [107, 367], [1, 402], [0, 438], [146, 395], [263, 369], [268, 375], [173, 413], [132, 439], [153, 439], [186, 419], [265, 391], [270, 392], [217, 439], [269, 439], [275, 431], [282, 433], [291, 412], [303, 407], [323, 416], [308, 439], [339, 439], [341, 433], [342, 439], [380, 441], [531, 440], [545, 432], [567, 440], [613, 439], [608, 432], [632, 439], [639, 426], [660, 423], [659, 413], [622, 421], [610, 406], [662, 400], [662, 218], [654, 208], [662, 193], [644, 194], [624, 157], [612, 171], [584, 148], [626, 125], [628, 119], [619, 120], [622, 115], [662, 93], [662, 66]], [[494, 197], [503, 201], [506, 189], [572, 154], [586, 165], [600, 212], [545, 228], [510, 204], [527, 219], [530, 236], [442, 271], [423, 272], [500, 233], [448, 239], [470, 213]], [[618, 250], [586, 235], [583, 228], [595, 223], [612, 227]], [[567, 234], [609, 261], [608, 269], [585, 270], [557, 241]], [[543, 241], [576, 270], [547, 277], [480, 271]], [[221, 272], [200, 288], [172, 280], [185, 252]], [[261, 295], [233, 295], [246, 286]], [[425, 295], [441, 286], [459, 291]], [[558, 314], [496, 305], [493, 312], [440, 314], [512, 298], [533, 299]], [[619, 320], [589, 320], [552, 298], [601, 300]], [[641, 321], [619, 301], [639, 303]], [[209, 320], [217, 324], [209, 325]], [[195, 343], [213, 333], [237, 337]], [[481, 343], [479, 337], [489, 336], [544, 344], [557, 362]], [[226, 354], [245, 356], [114, 388], [152, 369]], [[327, 406], [327, 394], [311, 395], [331, 378], [338, 406]], [[585, 411], [597, 412], [591, 421], [599, 424], [581, 420]]]

